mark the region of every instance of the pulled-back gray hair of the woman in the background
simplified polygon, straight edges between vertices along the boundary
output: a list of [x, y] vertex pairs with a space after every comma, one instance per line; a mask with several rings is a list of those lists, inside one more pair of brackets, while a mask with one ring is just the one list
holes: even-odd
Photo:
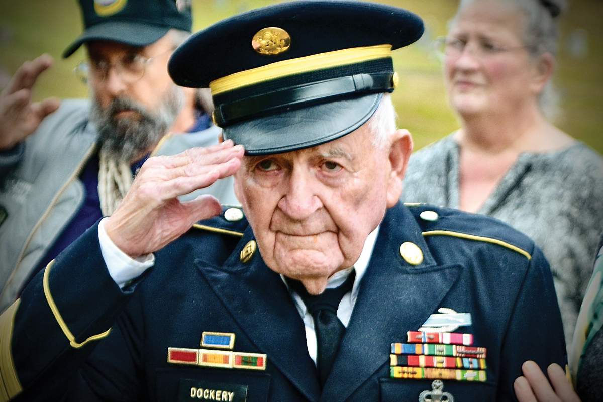
[[[478, 0], [461, 0], [456, 15], [451, 21], [455, 24], [464, 8]], [[520, 11], [526, 17], [522, 33], [522, 42], [528, 48], [535, 60], [540, 55], [550, 53], [557, 55], [557, 40], [559, 29], [557, 16], [567, 10], [566, 0], [499, 0], [513, 10]], [[544, 89], [538, 94], [540, 111], [549, 119], [554, 119], [559, 113], [559, 95], [549, 80]]]

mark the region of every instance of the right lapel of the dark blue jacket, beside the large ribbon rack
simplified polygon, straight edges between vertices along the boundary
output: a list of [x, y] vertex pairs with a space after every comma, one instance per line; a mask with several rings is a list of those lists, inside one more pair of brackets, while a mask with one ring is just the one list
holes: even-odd
[[[420, 265], [402, 259], [403, 242], [421, 249]], [[417, 330], [435, 312], [459, 272], [459, 266], [436, 265], [406, 207], [388, 210], [320, 400], [346, 400], [374, 372], [389, 365], [391, 343], [404, 342], [406, 331]]]

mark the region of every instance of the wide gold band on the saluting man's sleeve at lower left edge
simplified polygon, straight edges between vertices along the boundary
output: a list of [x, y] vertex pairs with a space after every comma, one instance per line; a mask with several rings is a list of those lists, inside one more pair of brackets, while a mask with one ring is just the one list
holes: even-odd
[[19, 303], [21, 303], [21, 299], [17, 299], [0, 315], [0, 402], [7, 402], [23, 391], [19, 377], [17, 377], [12, 351], [14, 315]]

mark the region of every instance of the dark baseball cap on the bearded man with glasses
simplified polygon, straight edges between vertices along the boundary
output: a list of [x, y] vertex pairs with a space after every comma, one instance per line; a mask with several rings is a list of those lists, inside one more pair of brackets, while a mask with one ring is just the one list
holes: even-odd
[[80, 0], [80, 7], [84, 32], [65, 49], [63, 58], [90, 40], [147, 46], [171, 28], [192, 30], [191, 0]]

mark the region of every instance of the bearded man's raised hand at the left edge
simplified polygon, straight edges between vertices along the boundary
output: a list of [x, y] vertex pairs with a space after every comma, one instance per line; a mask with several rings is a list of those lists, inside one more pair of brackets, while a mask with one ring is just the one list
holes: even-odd
[[57, 98], [31, 102], [37, 78], [52, 65], [52, 57], [43, 54], [25, 61], [0, 93], [0, 151], [10, 149], [36, 131], [40, 122], [58, 109]]

